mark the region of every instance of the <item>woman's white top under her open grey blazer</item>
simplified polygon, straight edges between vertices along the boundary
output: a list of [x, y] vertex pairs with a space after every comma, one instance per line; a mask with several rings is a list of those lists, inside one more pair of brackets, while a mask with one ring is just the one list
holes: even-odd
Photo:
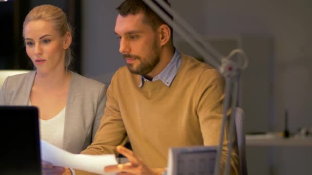
[[40, 138], [54, 146], [63, 149], [65, 110], [49, 120], [40, 119]]

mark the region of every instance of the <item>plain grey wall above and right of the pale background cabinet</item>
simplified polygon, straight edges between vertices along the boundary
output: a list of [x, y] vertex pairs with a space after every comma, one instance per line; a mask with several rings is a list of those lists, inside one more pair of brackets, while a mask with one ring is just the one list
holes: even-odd
[[[205, 35], [259, 33], [274, 36], [276, 75], [273, 95], [277, 99], [275, 129], [283, 128], [280, 123], [284, 110], [289, 111], [291, 130], [312, 125], [312, 120], [308, 120], [308, 109], [312, 107], [311, 101], [308, 101], [312, 97], [308, 89], [312, 82], [307, 78], [312, 75], [310, 1], [171, 2], [178, 13]], [[188, 13], [185, 13], [186, 10]], [[199, 13], [194, 13], [197, 11]]]

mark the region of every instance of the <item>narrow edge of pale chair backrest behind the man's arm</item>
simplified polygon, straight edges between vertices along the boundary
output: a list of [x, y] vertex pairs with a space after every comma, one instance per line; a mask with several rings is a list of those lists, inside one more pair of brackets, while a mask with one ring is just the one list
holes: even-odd
[[247, 175], [246, 162], [246, 139], [245, 139], [245, 116], [240, 107], [235, 108], [235, 125], [238, 143], [238, 153], [240, 158], [240, 169], [242, 175]]

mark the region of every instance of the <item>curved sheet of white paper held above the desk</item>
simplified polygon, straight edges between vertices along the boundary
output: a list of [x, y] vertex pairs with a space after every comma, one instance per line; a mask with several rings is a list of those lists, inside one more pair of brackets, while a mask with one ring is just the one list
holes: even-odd
[[55, 166], [95, 172], [99, 174], [115, 174], [104, 172], [107, 165], [116, 165], [115, 155], [79, 155], [72, 154], [43, 140], [41, 144], [41, 159]]

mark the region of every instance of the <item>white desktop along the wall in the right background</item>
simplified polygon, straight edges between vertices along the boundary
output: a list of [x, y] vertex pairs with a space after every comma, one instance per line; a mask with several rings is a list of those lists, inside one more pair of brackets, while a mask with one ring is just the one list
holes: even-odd
[[265, 135], [246, 135], [246, 146], [312, 147], [312, 137], [285, 139]]

